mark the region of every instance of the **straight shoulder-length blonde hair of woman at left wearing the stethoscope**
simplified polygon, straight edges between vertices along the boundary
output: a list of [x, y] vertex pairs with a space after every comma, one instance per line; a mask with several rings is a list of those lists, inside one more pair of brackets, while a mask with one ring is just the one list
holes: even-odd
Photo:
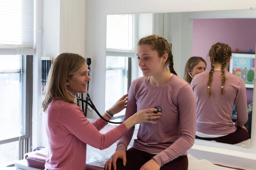
[[56, 99], [75, 103], [67, 92], [67, 78], [71, 78], [85, 63], [79, 54], [61, 53], [53, 62], [48, 78], [47, 89], [42, 108], [45, 112], [49, 104]]

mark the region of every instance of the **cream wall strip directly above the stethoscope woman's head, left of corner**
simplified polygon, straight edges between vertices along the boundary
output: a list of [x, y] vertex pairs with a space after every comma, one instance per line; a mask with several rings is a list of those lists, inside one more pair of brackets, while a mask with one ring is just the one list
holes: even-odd
[[60, 1], [60, 53], [84, 56], [85, 1]]

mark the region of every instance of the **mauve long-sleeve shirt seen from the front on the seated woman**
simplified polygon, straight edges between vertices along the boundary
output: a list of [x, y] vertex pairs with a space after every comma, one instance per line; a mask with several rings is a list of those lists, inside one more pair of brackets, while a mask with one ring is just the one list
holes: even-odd
[[[176, 75], [164, 84], [153, 87], [148, 77], [132, 82], [124, 119], [138, 110], [161, 107], [162, 114], [157, 124], [143, 123], [134, 140], [133, 148], [158, 153], [153, 159], [163, 166], [180, 155], [187, 155], [196, 133], [196, 100], [191, 86]], [[134, 127], [118, 142], [117, 148], [126, 151]], [[127, 160], [129, 161], [129, 160]]]

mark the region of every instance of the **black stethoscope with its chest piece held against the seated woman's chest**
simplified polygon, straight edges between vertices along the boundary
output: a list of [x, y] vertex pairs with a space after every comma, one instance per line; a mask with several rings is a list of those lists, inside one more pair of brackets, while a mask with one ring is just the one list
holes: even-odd
[[[68, 90], [67, 90], [67, 92], [68, 92], [70, 95], [72, 95]], [[89, 93], [88, 93], [87, 91], [86, 91], [86, 95], [87, 95], [87, 99], [86, 99], [86, 100], [81, 99], [81, 98], [79, 98], [79, 97], [76, 97], [76, 96], [74, 96], [74, 95], [72, 95], [72, 96], [74, 96], [77, 100], [80, 100], [81, 102], [87, 103], [87, 104], [97, 113], [97, 115], [99, 115], [99, 117], [100, 117], [101, 119], [105, 120], [106, 122], [111, 123], [111, 124], [121, 124], [121, 123], [123, 123], [123, 122], [112, 122], [112, 121], [109, 121], [109, 120], [105, 119], [104, 117], [102, 117], [102, 116], [100, 115], [99, 111], [96, 109], [96, 107], [95, 107], [94, 104], [92, 103], [91, 97], [90, 97], [90, 95], [89, 95]], [[89, 102], [90, 102], [90, 103], [89, 103]], [[162, 112], [162, 109], [161, 109], [160, 107], [155, 107], [155, 108], [157, 109], [157, 111], [154, 111], [154, 113]], [[149, 120], [150, 120], [150, 119], [149, 119]]]

